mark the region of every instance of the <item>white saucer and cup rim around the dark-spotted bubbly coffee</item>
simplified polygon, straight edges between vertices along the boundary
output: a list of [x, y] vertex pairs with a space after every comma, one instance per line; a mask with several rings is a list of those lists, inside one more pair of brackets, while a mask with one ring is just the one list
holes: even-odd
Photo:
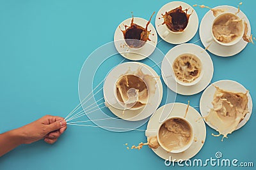
[[[175, 79], [172, 77], [171, 61], [182, 53], [193, 53], [202, 61], [204, 75], [202, 76], [202, 79], [195, 85], [180, 85], [179, 83], [176, 83]], [[171, 89], [173, 92], [177, 92], [177, 94], [193, 95], [201, 92], [207, 87], [207, 85], [209, 85], [212, 80], [214, 68], [210, 55], [203, 48], [198, 45], [187, 43], [177, 45], [166, 53], [162, 61], [161, 70], [164, 83], [166, 83], [169, 89]]]

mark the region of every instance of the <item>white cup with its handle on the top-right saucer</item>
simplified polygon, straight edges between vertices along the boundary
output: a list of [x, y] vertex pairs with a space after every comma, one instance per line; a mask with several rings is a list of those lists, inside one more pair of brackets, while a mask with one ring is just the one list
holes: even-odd
[[[224, 46], [231, 46], [231, 45], [235, 45], [236, 43], [238, 43], [241, 38], [243, 38], [243, 32], [241, 32], [241, 35], [239, 37], [237, 37], [236, 39], [234, 39], [234, 41], [231, 41], [230, 43], [223, 43], [221, 41], [218, 41], [218, 39], [215, 38], [214, 34], [213, 34], [213, 31], [212, 31], [212, 27], [214, 25], [214, 23], [216, 22], [216, 20], [218, 20], [220, 17], [223, 17], [223, 15], [234, 15], [237, 17], [237, 19], [241, 19], [239, 18], [236, 14], [234, 13], [229, 13], [229, 12], [225, 12], [225, 13], [221, 13], [220, 15], [218, 15], [212, 22], [212, 25], [211, 25], [211, 38], [207, 40], [207, 43], [210, 43], [212, 40], [214, 40], [216, 43], [220, 44], [220, 45], [224, 45]], [[243, 24], [243, 22], [242, 22]], [[242, 31], [244, 31], [244, 24], [243, 24], [243, 28], [241, 29]]]

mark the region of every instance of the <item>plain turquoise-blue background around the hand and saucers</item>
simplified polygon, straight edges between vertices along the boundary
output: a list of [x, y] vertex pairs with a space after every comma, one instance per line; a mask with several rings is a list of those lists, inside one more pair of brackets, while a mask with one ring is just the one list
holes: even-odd
[[[120, 22], [149, 18], [170, 1], [4, 1], [0, 0], [0, 132], [20, 127], [46, 114], [65, 117], [79, 103], [77, 81], [83, 62], [97, 47], [113, 41]], [[193, 4], [237, 6], [241, 1], [193, 1]], [[241, 10], [255, 32], [256, 1], [244, 0]], [[207, 9], [195, 8], [201, 21]], [[152, 19], [154, 25], [156, 15]], [[191, 43], [199, 39], [198, 32]], [[200, 42], [196, 43], [202, 46]], [[161, 41], [164, 53], [174, 45]], [[230, 79], [250, 90], [255, 103], [255, 45], [234, 57], [216, 57], [212, 82]], [[91, 83], [91, 82], [88, 82]], [[177, 96], [177, 102], [198, 106], [200, 94]], [[255, 109], [253, 109], [255, 112]], [[210, 159], [220, 151], [225, 159], [255, 159], [255, 114], [228, 139], [207, 139], [193, 159]], [[145, 125], [142, 127], [145, 129]], [[22, 145], [0, 158], [0, 169], [170, 169], [148, 147], [126, 150], [124, 143], [145, 141], [143, 132], [109, 132], [95, 127], [68, 126], [57, 143]], [[1, 148], [0, 148], [1, 149]], [[192, 160], [193, 160], [192, 159]], [[254, 165], [256, 166], [256, 165]], [[175, 165], [176, 169], [182, 167]], [[192, 167], [195, 168], [195, 167]], [[196, 167], [204, 169], [205, 167]], [[233, 167], [211, 167], [231, 169]], [[239, 167], [236, 167], [239, 169]], [[253, 167], [248, 167], [253, 169]]]

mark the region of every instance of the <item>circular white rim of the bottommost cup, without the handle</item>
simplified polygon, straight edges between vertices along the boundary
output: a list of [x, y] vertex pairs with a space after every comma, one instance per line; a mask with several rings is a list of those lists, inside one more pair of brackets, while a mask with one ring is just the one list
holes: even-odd
[[[191, 139], [190, 139], [189, 143], [188, 143], [187, 145], [183, 146], [182, 148], [179, 148], [179, 149], [177, 149], [177, 150], [172, 150], [172, 151], [170, 151], [170, 150], [168, 150], [166, 147], [164, 147], [163, 144], [161, 143], [161, 141], [160, 141], [160, 139], [159, 139], [159, 130], [160, 130], [160, 128], [162, 127], [162, 125], [163, 125], [165, 122], [167, 122], [168, 120], [171, 120], [171, 119], [173, 119], [173, 118], [180, 118], [180, 119], [184, 120], [184, 121], [189, 125], [189, 127], [191, 128]], [[158, 141], [159, 145], [160, 145], [164, 150], [166, 150], [167, 152], [171, 152], [171, 153], [180, 153], [180, 152], [184, 152], [185, 150], [187, 150], [187, 149], [192, 145], [192, 143], [193, 143], [193, 141], [194, 141], [194, 139], [193, 139], [194, 136], [195, 136], [195, 135], [194, 135], [193, 125], [192, 125], [186, 118], [184, 118], [184, 117], [179, 117], [179, 116], [174, 116], [174, 117], [167, 118], [166, 120], [164, 120], [164, 122], [162, 122], [162, 123], [159, 125], [159, 127], [158, 127], [158, 129], [157, 129], [157, 141]]]

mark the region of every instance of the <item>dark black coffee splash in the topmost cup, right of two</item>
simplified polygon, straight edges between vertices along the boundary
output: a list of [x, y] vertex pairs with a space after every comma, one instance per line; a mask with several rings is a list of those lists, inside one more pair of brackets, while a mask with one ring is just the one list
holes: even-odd
[[182, 6], [179, 6], [173, 10], [166, 11], [165, 14], [161, 14], [164, 18], [162, 25], [166, 24], [168, 29], [173, 32], [182, 32], [186, 29], [190, 15], [193, 11], [188, 14], [188, 10], [182, 10]]

